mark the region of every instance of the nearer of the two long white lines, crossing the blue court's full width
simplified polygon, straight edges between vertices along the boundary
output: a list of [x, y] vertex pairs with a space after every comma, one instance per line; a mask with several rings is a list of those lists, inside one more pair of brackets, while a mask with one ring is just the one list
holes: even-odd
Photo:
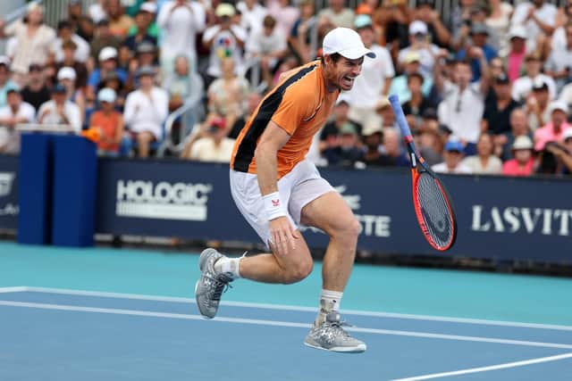
[[[109, 309], [109, 308], [98, 308], [98, 307], [79, 307], [79, 306], [72, 306], [65, 304], [46, 304], [37, 302], [0, 301], [0, 306], [2, 305], [9, 307], [35, 308], [41, 310], [95, 312], [95, 313], [107, 313], [114, 315], [145, 316], [145, 317], [167, 318], [167, 319], [187, 319], [187, 320], [204, 319], [200, 315], [188, 315], [182, 313], [123, 310], [123, 309]], [[254, 324], [258, 326], [274, 326], [274, 327], [299, 327], [299, 328], [311, 327], [310, 324], [305, 324], [305, 323], [293, 323], [290, 321], [263, 320], [263, 319], [218, 317], [215, 318], [214, 321], [222, 321], [227, 323], [240, 323], [240, 324]], [[492, 343], [492, 344], [512, 344], [512, 345], [558, 348], [558, 349], [568, 349], [568, 350], [572, 349], [572, 345], [570, 344], [540, 343], [540, 342], [529, 342], [522, 340], [498, 339], [490, 337], [442, 335], [442, 334], [429, 334], [425, 332], [411, 332], [411, 331], [398, 331], [390, 329], [359, 328], [359, 327], [348, 327], [348, 330], [352, 332], [362, 332], [366, 334], [376, 334], [376, 335], [399, 335], [399, 336], [424, 337], [424, 338], [444, 339], [444, 340], [454, 340], [454, 341], [467, 341], [467, 342]]]

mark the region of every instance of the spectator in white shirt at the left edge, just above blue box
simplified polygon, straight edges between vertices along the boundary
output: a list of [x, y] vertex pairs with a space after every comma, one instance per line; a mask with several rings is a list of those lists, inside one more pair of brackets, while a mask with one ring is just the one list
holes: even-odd
[[33, 123], [36, 110], [31, 104], [22, 102], [16, 89], [8, 90], [7, 104], [0, 107], [0, 153], [20, 152], [20, 132], [16, 126], [20, 123]]

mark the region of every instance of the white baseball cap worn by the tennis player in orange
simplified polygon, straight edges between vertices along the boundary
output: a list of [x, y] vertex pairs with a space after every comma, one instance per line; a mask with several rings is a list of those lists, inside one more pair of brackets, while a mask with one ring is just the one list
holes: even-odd
[[324, 54], [341, 54], [349, 60], [357, 60], [364, 55], [375, 58], [374, 52], [364, 46], [357, 31], [349, 28], [336, 28], [329, 31], [324, 37], [323, 51]]

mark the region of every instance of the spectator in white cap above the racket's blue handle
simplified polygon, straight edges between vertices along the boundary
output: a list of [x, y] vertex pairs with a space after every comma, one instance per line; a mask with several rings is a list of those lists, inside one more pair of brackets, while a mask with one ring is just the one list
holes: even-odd
[[435, 63], [435, 55], [439, 54], [440, 49], [439, 46], [429, 41], [428, 33], [427, 24], [423, 21], [416, 20], [409, 24], [409, 46], [401, 49], [398, 55], [400, 68], [410, 52], [417, 52], [421, 56], [421, 74], [423, 74], [424, 77], [431, 76]]

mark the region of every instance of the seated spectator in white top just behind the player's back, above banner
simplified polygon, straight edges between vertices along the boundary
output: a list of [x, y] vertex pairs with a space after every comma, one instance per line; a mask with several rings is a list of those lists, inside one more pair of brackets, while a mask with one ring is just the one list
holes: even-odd
[[182, 152], [183, 159], [199, 162], [231, 162], [234, 139], [227, 137], [227, 128], [223, 118], [207, 118], [201, 137], [189, 142]]

